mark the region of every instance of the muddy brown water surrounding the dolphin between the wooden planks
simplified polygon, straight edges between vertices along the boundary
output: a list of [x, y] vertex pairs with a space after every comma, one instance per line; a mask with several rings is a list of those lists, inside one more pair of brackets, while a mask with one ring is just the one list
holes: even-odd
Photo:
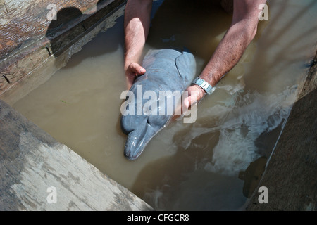
[[[230, 25], [211, 1], [155, 1], [144, 49], [187, 47], [201, 71]], [[317, 3], [269, 1], [240, 63], [133, 162], [120, 131], [123, 16], [48, 82], [13, 105], [156, 210], [241, 210], [270, 157], [316, 44]], [[101, 190], [102, 191], [102, 190]]]

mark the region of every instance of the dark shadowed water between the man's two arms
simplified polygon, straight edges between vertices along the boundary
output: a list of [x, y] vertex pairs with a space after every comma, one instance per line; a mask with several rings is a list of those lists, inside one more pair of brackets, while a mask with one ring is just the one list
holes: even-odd
[[[218, 44], [215, 37], [228, 29], [231, 18], [215, 1], [166, 0], [151, 20], [147, 44], [156, 49], [186, 47], [195, 56], [208, 61]], [[211, 29], [202, 30], [201, 27]]]

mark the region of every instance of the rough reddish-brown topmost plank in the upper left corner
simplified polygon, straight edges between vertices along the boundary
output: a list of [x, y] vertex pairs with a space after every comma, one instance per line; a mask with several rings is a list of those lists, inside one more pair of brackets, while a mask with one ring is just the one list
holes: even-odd
[[[59, 32], [63, 32], [72, 24], [80, 23], [96, 13], [97, 5], [106, 6], [113, 2], [115, 1], [0, 0], [0, 61], [46, 37], [51, 23], [58, 24]], [[51, 5], [56, 8], [49, 7]], [[52, 20], [51, 15], [54, 14], [50, 12], [55, 9], [60, 18], [57, 16], [57, 20]], [[68, 15], [62, 15], [61, 11], [67, 11]], [[73, 23], [74, 20], [76, 23]]]

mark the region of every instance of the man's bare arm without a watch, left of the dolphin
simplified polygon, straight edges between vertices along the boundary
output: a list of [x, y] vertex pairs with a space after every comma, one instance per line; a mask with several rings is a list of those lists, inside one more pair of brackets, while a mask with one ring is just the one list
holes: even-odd
[[152, 0], [128, 0], [125, 6], [125, 76], [130, 89], [135, 77], [145, 69], [139, 65], [149, 34]]

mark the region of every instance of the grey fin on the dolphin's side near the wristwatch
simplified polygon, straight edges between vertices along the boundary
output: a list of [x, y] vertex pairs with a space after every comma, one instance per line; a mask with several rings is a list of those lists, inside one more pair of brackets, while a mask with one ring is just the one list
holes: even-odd
[[188, 49], [184, 49], [182, 54], [178, 58], [175, 58], [175, 65], [185, 84], [192, 82], [196, 75], [196, 60]]

